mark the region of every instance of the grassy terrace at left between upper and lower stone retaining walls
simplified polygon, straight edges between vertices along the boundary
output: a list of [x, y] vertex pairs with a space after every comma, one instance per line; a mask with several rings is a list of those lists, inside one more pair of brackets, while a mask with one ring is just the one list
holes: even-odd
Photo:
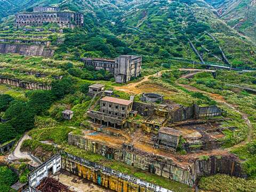
[[[67, 75], [66, 67], [82, 67], [82, 62], [26, 57], [17, 54], [0, 55], [0, 75], [22, 81], [51, 84], [54, 77]], [[35, 74], [45, 77], [36, 77]]]

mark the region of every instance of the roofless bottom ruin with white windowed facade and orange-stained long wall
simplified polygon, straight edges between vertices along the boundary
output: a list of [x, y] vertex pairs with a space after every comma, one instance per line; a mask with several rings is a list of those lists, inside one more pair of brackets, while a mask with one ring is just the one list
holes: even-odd
[[42, 165], [30, 172], [28, 177], [29, 188], [25, 191], [40, 192], [37, 186], [41, 181], [55, 174], [60, 170], [66, 170], [75, 175], [79, 175], [102, 187], [114, 191], [148, 191], [148, 192], [172, 192], [161, 186], [154, 185], [147, 181], [135, 178], [132, 175], [124, 174], [109, 167], [90, 162], [87, 159], [71, 155], [61, 151], [55, 154]]

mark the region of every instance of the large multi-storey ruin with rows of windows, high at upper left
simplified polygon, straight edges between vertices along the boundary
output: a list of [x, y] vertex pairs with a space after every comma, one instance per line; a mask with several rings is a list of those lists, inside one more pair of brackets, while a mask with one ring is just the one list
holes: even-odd
[[43, 26], [44, 23], [56, 23], [60, 27], [83, 27], [82, 13], [60, 11], [57, 7], [34, 7], [33, 12], [18, 13], [15, 17], [15, 27]]

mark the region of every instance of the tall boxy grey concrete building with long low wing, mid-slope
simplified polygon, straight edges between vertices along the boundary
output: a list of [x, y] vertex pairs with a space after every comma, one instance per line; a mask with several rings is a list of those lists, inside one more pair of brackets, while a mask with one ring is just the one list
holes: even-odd
[[103, 58], [83, 58], [85, 66], [94, 67], [94, 70], [108, 70], [115, 76], [116, 83], [127, 83], [141, 74], [142, 57], [136, 55], [121, 55], [115, 60]]

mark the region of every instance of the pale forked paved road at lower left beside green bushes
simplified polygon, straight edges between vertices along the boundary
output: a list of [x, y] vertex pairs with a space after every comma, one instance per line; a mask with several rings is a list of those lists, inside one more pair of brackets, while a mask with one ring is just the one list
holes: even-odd
[[15, 147], [15, 149], [12, 151], [12, 153], [7, 158], [10, 161], [18, 160], [18, 159], [29, 159], [34, 164], [37, 164], [37, 165], [42, 164], [42, 162], [34, 155], [27, 153], [27, 152], [20, 151], [22, 142], [26, 139], [31, 139], [27, 133], [25, 133], [23, 135], [23, 137], [19, 140], [17, 146]]

